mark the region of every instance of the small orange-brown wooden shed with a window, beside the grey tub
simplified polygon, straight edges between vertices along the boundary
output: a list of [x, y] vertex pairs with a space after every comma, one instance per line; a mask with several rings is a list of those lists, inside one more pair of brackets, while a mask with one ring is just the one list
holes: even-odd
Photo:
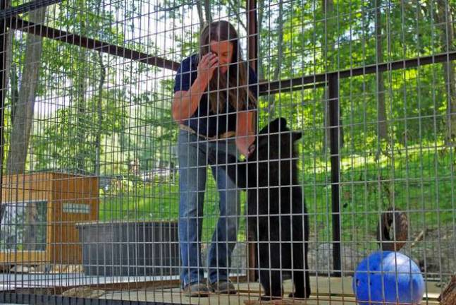
[[0, 263], [80, 264], [77, 222], [97, 220], [98, 178], [57, 172], [3, 178]]

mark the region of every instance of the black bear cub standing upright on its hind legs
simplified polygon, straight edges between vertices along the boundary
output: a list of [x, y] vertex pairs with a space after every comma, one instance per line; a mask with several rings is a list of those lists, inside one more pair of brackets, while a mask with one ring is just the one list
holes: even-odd
[[248, 229], [257, 243], [259, 280], [265, 292], [261, 299], [281, 298], [282, 276], [291, 272], [295, 292], [290, 297], [310, 295], [309, 221], [295, 148], [301, 136], [290, 131], [285, 119], [276, 119], [259, 132], [247, 162], [233, 157], [225, 168], [238, 187], [247, 190]]

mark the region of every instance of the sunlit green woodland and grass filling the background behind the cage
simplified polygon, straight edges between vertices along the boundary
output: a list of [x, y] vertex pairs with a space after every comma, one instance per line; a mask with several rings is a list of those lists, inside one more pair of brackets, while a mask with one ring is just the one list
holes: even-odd
[[[376, 33], [376, 2], [380, 1], [283, 1], [279, 18], [277, 1], [258, 1], [260, 78], [271, 80], [274, 71], [280, 72], [279, 79], [288, 79], [378, 64], [378, 40], [383, 61], [438, 54], [445, 49], [441, 40], [445, 28], [436, 21], [436, 4], [381, 1], [381, 32]], [[331, 4], [326, 11], [324, 3]], [[448, 3], [454, 16], [456, 2]], [[195, 5], [164, 1], [163, 7], [154, 7], [154, 18], [173, 32], [172, 43], [155, 45], [154, 28], [148, 29], [150, 37], [144, 37], [144, 33], [134, 37], [139, 28], [135, 23], [145, 9], [141, 1], [105, 4], [76, 0], [52, 6], [47, 25], [175, 61], [197, 52], [199, 20]], [[244, 7], [245, 1], [211, 1], [213, 16], [230, 13], [245, 49]], [[189, 21], [189, 15], [194, 19]], [[13, 61], [18, 65], [19, 77], [26, 34], [20, 35], [16, 34], [13, 41]], [[143, 171], [177, 164], [178, 126], [170, 111], [173, 74], [56, 40], [44, 39], [43, 43], [38, 95], [44, 107], [51, 110], [35, 118], [27, 169], [94, 174], [99, 168], [100, 177], [110, 179], [106, 189], [100, 189], [101, 220], [176, 219], [178, 177], [153, 182], [141, 178]], [[455, 207], [455, 155], [443, 148], [448, 84], [442, 65], [383, 72], [382, 76], [388, 140], [377, 136], [377, 76], [354, 76], [339, 83], [345, 143], [340, 148], [343, 228], [345, 232], [358, 230], [360, 236], [366, 231], [374, 234], [379, 213], [391, 204], [425, 210], [410, 215], [415, 226], [454, 223], [454, 212], [450, 210]], [[272, 100], [274, 109], [270, 111]], [[269, 119], [284, 116], [292, 129], [303, 131], [302, 183], [312, 224], [316, 224], [312, 230], [324, 240], [331, 239], [325, 100], [323, 87], [281, 90], [273, 99], [259, 99], [258, 122], [261, 128]], [[11, 101], [8, 92], [6, 151], [12, 140], [8, 133]], [[139, 160], [140, 172], [130, 167], [135, 160]], [[208, 179], [204, 240], [211, 237], [217, 202], [214, 181]], [[436, 209], [438, 213], [432, 212]], [[344, 236], [346, 240], [351, 238], [355, 237]]]

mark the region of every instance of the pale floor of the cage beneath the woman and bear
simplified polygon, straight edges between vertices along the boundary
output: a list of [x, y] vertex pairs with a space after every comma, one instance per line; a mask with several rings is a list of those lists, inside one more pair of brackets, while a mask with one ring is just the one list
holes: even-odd
[[[178, 285], [170, 285], [178, 280], [178, 276], [167, 277], [101, 277], [87, 276], [81, 273], [68, 274], [19, 274], [8, 273], [0, 274], [0, 291], [14, 289], [30, 289], [29, 293], [38, 293], [39, 289], [51, 287], [80, 287], [90, 286], [90, 289], [101, 289], [99, 299], [116, 299], [128, 301], [155, 301], [175, 304], [202, 304], [202, 305], [257, 305], [258, 297], [261, 294], [259, 282], [234, 282], [237, 294], [211, 294], [205, 298], [186, 297]], [[168, 282], [167, 282], [168, 281]], [[141, 288], [138, 284], [144, 284]], [[111, 285], [121, 284], [123, 288], [113, 288]], [[102, 287], [104, 285], [104, 287]], [[352, 305], [355, 298], [352, 292], [352, 277], [311, 277], [312, 296], [307, 300], [287, 299], [277, 302], [264, 302], [261, 304], [308, 304], [308, 305]], [[111, 287], [111, 289], [110, 289]], [[37, 290], [35, 290], [37, 289]], [[292, 282], [284, 282], [285, 294], [292, 291]], [[43, 290], [42, 290], [43, 291]], [[428, 282], [423, 304], [434, 305], [440, 295], [441, 288], [437, 287], [436, 282]], [[85, 292], [86, 293], [86, 292]], [[87, 297], [79, 295], [79, 297]]]

